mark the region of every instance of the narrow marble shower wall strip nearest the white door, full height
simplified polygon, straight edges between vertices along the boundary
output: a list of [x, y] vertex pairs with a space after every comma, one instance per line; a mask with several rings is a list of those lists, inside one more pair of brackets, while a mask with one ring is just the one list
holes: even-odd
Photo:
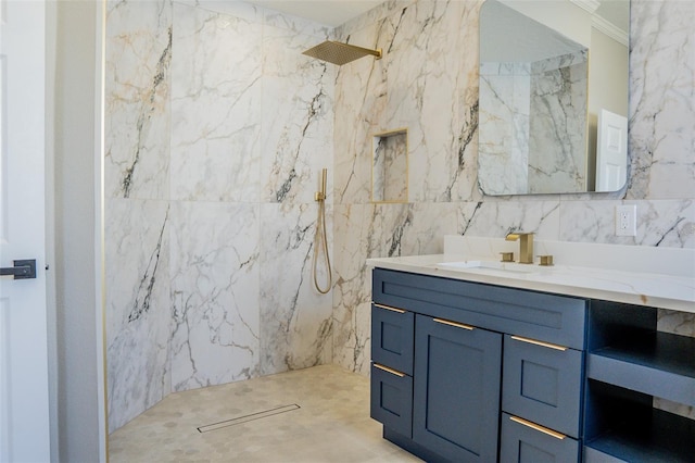
[[106, 2], [104, 234], [109, 426], [172, 390], [172, 4]]

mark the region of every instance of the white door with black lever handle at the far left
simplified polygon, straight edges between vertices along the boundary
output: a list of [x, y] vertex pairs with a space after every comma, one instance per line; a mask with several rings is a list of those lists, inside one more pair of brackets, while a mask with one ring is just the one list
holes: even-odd
[[42, 1], [0, 0], [0, 461], [50, 461], [45, 239]]

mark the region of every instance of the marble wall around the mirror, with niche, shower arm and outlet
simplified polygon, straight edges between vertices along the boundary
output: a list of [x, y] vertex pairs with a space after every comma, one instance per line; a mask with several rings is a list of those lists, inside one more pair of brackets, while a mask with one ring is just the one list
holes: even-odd
[[[622, 191], [493, 198], [477, 178], [481, 4], [390, 1], [337, 29], [341, 39], [386, 54], [342, 66], [336, 80], [333, 361], [346, 368], [368, 368], [367, 258], [441, 252], [439, 239], [452, 230], [695, 248], [695, 10], [683, 1], [632, 1], [630, 166]], [[368, 136], [400, 127], [413, 134], [410, 203], [369, 204]], [[636, 237], [615, 236], [615, 208], [622, 203], [637, 207]], [[692, 336], [692, 324], [683, 314], [660, 314], [664, 330]]]

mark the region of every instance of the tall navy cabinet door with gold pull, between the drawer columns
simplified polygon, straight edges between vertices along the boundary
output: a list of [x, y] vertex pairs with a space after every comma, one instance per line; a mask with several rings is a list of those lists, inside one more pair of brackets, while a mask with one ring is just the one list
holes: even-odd
[[447, 460], [497, 460], [502, 335], [417, 315], [413, 440]]

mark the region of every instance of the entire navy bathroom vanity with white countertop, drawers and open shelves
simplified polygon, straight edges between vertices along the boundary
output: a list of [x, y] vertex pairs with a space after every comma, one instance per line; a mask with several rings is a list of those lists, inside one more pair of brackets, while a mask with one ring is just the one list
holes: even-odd
[[658, 331], [642, 303], [695, 312], [692, 278], [620, 296], [618, 271], [609, 290], [582, 283], [590, 268], [455, 259], [368, 261], [384, 438], [426, 461], [693, 461], [695, 421], [653, 398], [695, 406], [695, 338]]

